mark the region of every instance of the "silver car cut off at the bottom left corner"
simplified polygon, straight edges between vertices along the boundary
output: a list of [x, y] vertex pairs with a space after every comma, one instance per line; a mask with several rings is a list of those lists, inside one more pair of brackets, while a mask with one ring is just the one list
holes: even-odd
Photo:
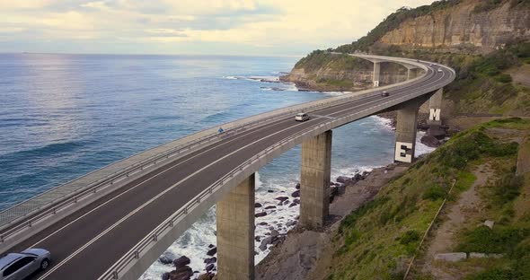
[[50, 253], [46, 249], [25, 249], [0, 258], [0, 280], [19, 280], [49, 267]]

